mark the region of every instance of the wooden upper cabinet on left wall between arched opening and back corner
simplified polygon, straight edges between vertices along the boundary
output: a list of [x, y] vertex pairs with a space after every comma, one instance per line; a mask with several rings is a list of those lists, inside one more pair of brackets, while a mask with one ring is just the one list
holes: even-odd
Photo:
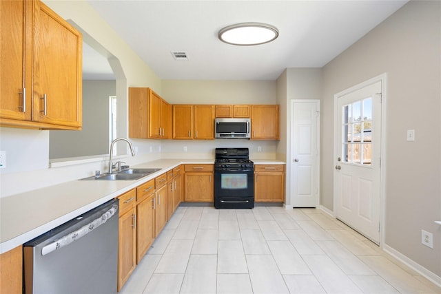
[[152, 89], [129, 88], [129, 136], [131, 138], [171, 138], [171, 106]]

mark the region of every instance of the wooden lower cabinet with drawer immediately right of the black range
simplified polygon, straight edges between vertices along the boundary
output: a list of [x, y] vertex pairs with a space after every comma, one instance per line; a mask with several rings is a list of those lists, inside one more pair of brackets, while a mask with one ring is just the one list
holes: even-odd
[[254, 201], [284, 202], [285, 165], [254, 165]]

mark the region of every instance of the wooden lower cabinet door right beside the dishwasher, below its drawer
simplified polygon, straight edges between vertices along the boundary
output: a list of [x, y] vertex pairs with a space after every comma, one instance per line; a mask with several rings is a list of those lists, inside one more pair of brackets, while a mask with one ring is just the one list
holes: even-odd
[[134, 208], [119, 217], [118, 291], [123, 288], [136, 266], [135, 219], [136, 213]]

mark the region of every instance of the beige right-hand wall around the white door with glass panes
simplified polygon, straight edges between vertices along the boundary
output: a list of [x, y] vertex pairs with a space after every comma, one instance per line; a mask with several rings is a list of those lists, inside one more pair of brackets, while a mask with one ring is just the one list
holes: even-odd
[[[441, 2], [410, 1], [323, 68], [322, 205], [333, 209], [334, 94], [387, 73], [384, 244], [441, 276]], [[384, 103], [383, 103], [384, 104]], [[415, 129], [415, 142], [407, 142]], [[421, 244], [421, 229], [434, 248]]]

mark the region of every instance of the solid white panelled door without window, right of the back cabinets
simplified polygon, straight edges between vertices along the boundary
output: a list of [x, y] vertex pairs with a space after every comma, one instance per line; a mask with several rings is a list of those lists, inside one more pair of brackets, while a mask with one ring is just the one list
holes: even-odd
[[291, 101], [291, 202], [318, 207], [320, 200], [320, 101]]

